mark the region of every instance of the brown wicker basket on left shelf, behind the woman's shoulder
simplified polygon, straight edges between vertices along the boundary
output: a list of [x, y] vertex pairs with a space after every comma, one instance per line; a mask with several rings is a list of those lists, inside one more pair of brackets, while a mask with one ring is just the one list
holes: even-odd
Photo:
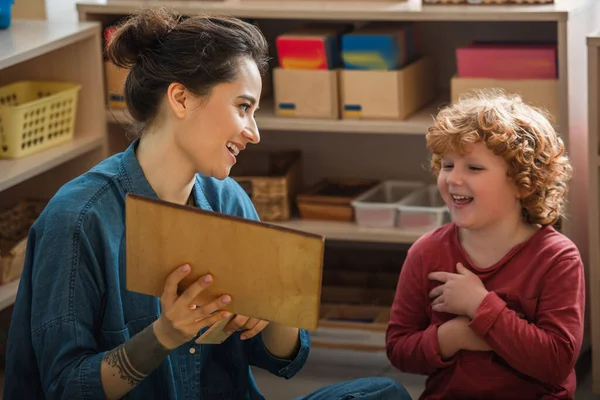
[[21, 276], [27, 234], [47, 201], [27, 200], [0, 212], [0, 285]]

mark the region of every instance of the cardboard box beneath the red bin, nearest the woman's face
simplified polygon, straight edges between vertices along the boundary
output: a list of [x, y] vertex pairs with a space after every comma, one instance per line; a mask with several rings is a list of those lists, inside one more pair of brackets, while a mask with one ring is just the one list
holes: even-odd
[[273, 68], [275, 114], [339, 118], [338, 70]]

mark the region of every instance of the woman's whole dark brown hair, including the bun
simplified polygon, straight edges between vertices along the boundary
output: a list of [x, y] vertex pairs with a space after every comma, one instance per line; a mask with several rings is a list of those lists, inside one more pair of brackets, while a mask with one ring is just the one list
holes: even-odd
[[125, 20], [112, 35], [107, 57], [127, 68], [124, 96], [140, 134], [156, 117], [173, 82], [198, 96], [235, 80], [239, 62], [253, 60], [264, 75], [268, 45], [254, 25], [230, 17], [183, 18], [160, 9], [144, 9]]

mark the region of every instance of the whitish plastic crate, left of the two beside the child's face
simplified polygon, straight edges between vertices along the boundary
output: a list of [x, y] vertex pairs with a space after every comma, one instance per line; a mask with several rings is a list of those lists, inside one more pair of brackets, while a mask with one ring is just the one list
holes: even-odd
[[357, 225], [371, 228], [396, 226], [398, 203], [419, 188], [421, 182], [385, 181], [352, 201]]

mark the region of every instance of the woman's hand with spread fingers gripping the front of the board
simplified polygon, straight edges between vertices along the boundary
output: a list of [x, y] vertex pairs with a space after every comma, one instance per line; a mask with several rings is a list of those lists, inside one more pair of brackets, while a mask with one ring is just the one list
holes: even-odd
[[212, 277], [205, 275], [192, 283], [181, 295], [177, 294], [179, 282], [190, 272], [184, 265], [172, 272], [165, 283], [160, 298], [162, 313], [154, 322], [154, 333], [159, 342], [168, 349], [175, 349], [192, 340], [198, 332], [222, 319], [228, 318], [227, 311], [215, 312], [231, 302], [228, 295], [204, 304], [194, 304], [194, 299], [210, 284]]

